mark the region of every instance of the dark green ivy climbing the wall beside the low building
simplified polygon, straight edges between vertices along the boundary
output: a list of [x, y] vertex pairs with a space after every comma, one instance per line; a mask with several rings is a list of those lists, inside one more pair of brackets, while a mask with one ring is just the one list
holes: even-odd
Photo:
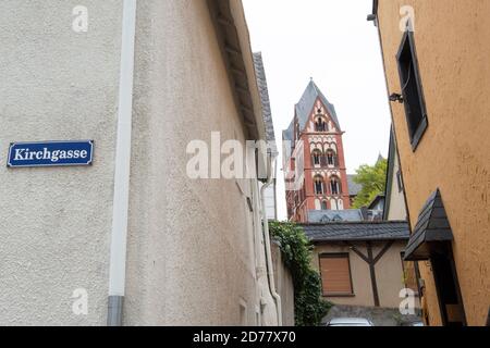
[[271, 222], [270, 232], [281, 248], [285, 266], [294, 283], [296, 326], [318, 326], [331, 303], [321, 298], [321, 279], [311, 268], [313, 247], [302, 227], [293, 223]]

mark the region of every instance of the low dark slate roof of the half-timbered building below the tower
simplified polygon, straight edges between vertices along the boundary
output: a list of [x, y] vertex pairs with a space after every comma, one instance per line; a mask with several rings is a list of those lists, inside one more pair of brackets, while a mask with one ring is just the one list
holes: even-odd
[[408, 240], [407, 222], [343, 222], [302, 225], [313, 243]]

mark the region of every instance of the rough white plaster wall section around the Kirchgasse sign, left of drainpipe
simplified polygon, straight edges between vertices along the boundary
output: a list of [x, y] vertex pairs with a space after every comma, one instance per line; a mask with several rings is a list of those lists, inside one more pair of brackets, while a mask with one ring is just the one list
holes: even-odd
[[[0, 325], [106, 322], [121, 1], [0, 1]], [[11, 141], [94, 139], [90, 167], [5, 166]], [[72, 293], [88, 291], [88, 315]]]

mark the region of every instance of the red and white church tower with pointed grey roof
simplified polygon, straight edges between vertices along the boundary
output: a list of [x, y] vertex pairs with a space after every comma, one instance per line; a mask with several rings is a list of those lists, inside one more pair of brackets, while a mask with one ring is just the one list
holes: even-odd
[[311, 79], [283, 132], [291, 221], [308, 222], [311, 211], [351, 208], [343, 134], [333, 104]]

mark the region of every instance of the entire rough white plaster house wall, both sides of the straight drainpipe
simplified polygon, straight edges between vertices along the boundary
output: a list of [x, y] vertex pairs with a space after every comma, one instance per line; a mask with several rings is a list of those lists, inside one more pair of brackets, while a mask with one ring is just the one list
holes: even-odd
[[[0, 1], [0, 325], [105, 325], [121, 1]], [[245, 141], [206, 1], [138, 1], [126, 325], [274, 324], [254, 181], [191, 181], [212, 130]], [[252, 57], [250, 57], [252, 59]], [[7, 170], [11, 141], [94, 139], [90, 167]], [[248, 210], [247, 197], [254, 202]], [[72, 313], [86, 288], [89, 313]]]

